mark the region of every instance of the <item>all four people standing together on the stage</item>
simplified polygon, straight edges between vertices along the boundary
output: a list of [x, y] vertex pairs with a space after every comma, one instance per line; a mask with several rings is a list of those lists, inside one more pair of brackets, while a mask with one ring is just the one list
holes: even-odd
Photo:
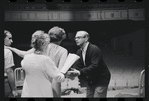
[[[21, 97], [61, 97], [61, 82], [65, 81], [65, 78], [73, 80], [75, 77], [87, 82], [86, 97], [107, 96], [111, 74], [103, 60], [101, 50], [89, 42], [89, 34], [86, 31], [78, 31], [74, 38], [77, 46], [80, 47], [76, 52], [80, 59], [67, 73], [60, 72], [68, 55], [67, 49], [60, 46], [65, 38], [65, 30], [58, 26], [51, 28], [48, 33], [37, 30], [32, 35], [32, 48], [22, 51], [10, 47], [12, 35], [9, 31], [4, 31], [4, 76], [7, 83], [11, 85], [14, 96], [17, 93], [13, 70], [10, 70], [14, 66], [11, 51], [23, 58], [21, 66], [26, 76]], [[6, 91], [5, 96], [8, 96]]]

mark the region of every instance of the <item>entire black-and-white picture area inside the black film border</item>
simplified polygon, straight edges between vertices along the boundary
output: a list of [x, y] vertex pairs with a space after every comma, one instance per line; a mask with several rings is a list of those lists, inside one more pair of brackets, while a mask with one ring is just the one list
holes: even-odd
[[4, 97], [145, 98], [145, 16], [143, 3], [5, 3]]

